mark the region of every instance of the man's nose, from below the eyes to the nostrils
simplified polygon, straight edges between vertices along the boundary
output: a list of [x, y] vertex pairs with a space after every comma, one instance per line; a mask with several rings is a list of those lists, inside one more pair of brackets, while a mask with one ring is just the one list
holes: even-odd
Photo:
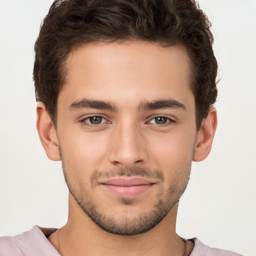
[[146, 141], [135, 124], [116, 126], [109, 150], [109, 161], [117, 167], [131, 168], [146, 162]]

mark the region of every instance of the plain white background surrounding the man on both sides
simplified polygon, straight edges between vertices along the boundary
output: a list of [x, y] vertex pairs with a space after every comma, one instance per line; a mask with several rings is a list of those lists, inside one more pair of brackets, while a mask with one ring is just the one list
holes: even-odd
[[[35, 128], [33, 43], [51, 0], [0, 0], [0, 235], [67, 219], [61, 165]], [[200, 0], [219, 64], [218, 128], [209, 157], [193, 163], [177, 232], [256, 255], [256, 1]]]

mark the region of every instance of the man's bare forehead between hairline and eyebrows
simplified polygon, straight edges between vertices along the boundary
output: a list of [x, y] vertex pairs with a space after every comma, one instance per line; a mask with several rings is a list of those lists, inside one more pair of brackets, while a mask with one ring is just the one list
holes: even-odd
[[130, 105], [164, 97], [183, 101], [191, 96], [189, 58], [180, 45], [162, 47], [147, 41], [86, 44], [69, 54], [66, 70], [59, 100], [64, 97], [69, 103], [85, 97]]

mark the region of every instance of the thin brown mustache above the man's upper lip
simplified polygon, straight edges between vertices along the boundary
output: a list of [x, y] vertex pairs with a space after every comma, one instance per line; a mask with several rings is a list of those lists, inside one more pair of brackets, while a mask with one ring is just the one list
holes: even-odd
[[163, 181], [164, 176], [161, 171], [157, 169], [150, 168], [141, 168], [141, 167], [132, 167], [132, 168], [114, 168], [110, 170], [95, 170], [90, 178], [91, 184], [97, 182], [100, 178], [112, 178], [116, 176], [141, 176], [155, 179], [156, 181]]

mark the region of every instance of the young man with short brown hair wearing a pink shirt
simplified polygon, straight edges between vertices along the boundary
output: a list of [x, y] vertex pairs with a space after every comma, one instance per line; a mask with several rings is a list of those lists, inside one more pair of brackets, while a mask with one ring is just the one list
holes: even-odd
[[193, 1], [54, 1], [33, 74], [68, 220], [0, 238], [0, 255], [238, 255], [175, 232], [191, 162], [207, 157], [216, 129], [216, 72]]

